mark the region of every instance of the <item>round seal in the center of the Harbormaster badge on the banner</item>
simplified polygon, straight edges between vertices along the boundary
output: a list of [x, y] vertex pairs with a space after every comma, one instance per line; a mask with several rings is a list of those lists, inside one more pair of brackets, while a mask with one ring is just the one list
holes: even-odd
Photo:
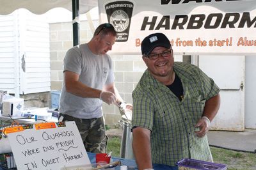
[[115, 27], [116, 32], [122, 32], [129, 27], [129, 16], [124, 10], [116, 10], [110, 17], [110, 23]]

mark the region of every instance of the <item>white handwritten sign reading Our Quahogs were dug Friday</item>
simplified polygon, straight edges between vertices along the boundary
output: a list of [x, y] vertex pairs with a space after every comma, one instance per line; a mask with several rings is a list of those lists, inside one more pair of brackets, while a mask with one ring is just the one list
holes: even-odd
[[56, 170], [90, 164], [74, 121], [55, 128], [31, 129], [8, 134], [19, 170]]

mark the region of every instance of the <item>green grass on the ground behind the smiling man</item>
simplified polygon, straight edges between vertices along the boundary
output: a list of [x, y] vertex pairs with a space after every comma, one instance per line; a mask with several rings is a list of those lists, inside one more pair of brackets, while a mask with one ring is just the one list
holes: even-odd
[[[113, 157], [120, 157], [120, 145], [120, 137], [111, 137], [108, 140], [107, 151], [113, 151]], [[245, 153], [216, 147], [211, 147], [211, 151], [214, 162], [219, 164], [226, 164], [228, 170], [256, 169], [256, 153]]]

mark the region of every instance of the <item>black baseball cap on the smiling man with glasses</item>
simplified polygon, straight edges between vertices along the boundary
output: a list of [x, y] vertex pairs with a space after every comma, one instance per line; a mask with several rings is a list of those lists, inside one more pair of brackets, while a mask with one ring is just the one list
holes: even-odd
[[141, 42], [141, 52], [143, 56], [148, 56], [150, 52], [156, 47], [165, 47], [170, 49], [172, 47], [170, 40], [163, 33], [154, 33], [148, 35]]

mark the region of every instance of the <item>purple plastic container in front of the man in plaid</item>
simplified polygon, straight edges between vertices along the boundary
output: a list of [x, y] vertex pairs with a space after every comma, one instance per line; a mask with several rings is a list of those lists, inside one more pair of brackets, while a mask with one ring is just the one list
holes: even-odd
[[203, 160], [195, 160], [191, 158], [182, 158], [177, 162], [179, 170], [225, 170], [227, 166], [224, 164], [216, 164], [212, 162], [206, 162]]

